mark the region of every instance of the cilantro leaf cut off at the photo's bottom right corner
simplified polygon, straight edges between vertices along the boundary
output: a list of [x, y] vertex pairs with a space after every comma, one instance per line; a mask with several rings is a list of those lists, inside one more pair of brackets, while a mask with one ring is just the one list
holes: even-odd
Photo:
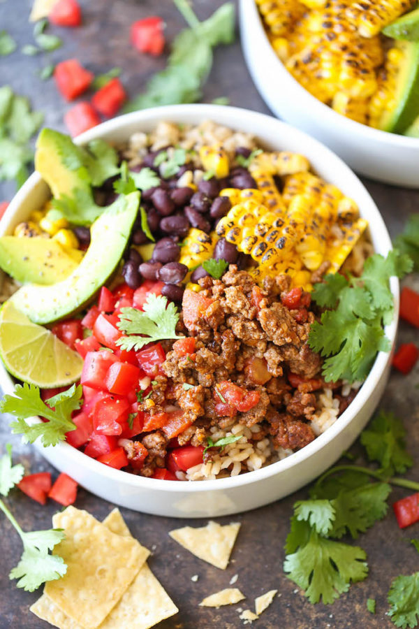
[[419, 572], [393, 579], [388, 592], [388, 615], [396, 627], [414, 628], [419, 623]]

